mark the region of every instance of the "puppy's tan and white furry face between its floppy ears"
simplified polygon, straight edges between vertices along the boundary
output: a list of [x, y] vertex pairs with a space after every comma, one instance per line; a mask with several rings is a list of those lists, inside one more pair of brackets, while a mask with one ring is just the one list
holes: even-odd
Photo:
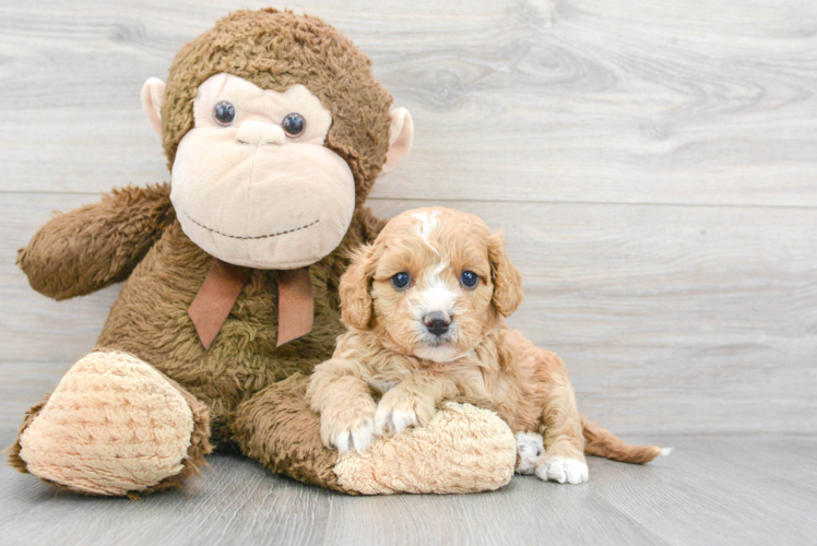
[[[446, 214], [450, 211], [426, 209], [392, 219], [381, 234], [386, 248], [372, 282], [376, 328], [384, 343], [437, 363], [467, 354], [495, 320], [486, 247], [490, 233], [482, 221], [441, 222]], [[479, 277], [476, 286], [462, 284], [464, 271]], [[411, 276], [402, 289], [391, 283], [401, 272]], [[450, 321], [445, 333], [429, 331], [424, 318], [430, 313]]]

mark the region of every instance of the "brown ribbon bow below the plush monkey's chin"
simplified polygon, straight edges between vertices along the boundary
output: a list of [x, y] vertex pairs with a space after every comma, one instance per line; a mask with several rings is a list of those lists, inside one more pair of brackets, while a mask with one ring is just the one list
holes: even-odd
[[[204, 283], [199, 288], [188, 314], [193, 321], [204, 348], [218, 335], [238, 295], [249, 281], [252, 270], [215, 260]], [[279, 336], [277, 346], [312, 331], [315, 304], [309, 270], [279, 271]]]

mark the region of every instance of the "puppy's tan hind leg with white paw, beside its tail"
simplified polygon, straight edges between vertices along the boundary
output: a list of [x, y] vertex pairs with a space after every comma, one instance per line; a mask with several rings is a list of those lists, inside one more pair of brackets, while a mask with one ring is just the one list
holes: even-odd
[[544, 351], [541, 357], [547, 360], [549, 390], [541, 419], [545, 452], [536, 461], [536, 476], [560, 484], [581, 484], [590, 473], [576, 393], [561, 360]]

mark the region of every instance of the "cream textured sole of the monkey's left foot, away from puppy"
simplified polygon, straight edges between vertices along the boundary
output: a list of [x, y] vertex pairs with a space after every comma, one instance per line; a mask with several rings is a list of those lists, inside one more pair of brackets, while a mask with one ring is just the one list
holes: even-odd
[[74, 364], [20, 437], [35, 476], [97, 495], [141, 491], [178, 474], [193, 414], [158, 371], [123, 353]]

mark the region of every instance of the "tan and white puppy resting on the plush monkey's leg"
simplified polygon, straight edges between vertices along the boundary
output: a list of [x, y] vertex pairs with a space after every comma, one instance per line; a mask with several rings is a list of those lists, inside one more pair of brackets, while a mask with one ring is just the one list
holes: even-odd
[[334, 356], [307, 393], [321, 436], [341, 452], [428, 423], [437, 404], [484, 401], [517, 434], [517, 472], [580, 484], [584, 454], [647, 463], [662, 450], [629, 446], [579, 413], [565, 366], [505, 318], [522, 302], [504, 241], [477, 216], [442, 207], [394, 217], [341, 278]]

